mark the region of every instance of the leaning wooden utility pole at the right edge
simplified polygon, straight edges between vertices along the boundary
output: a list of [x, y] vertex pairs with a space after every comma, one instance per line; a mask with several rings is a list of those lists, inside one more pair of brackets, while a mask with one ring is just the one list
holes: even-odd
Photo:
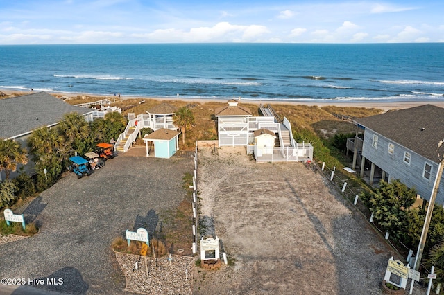
[[[441, 145], [443, 145], [442, 140], [439, 141], [439, 143], [438, 143], [438, 150], [441, 147]], [[427, 207], [427, 214], [425, 215], [424, 226], [422, 226], [422, 233], [421, 233], [421, 238], [420, 238], [420, 242], [419, 242], [419, 246], [418, 246], [418, 252], [416, 253], [415, 265], [413, 266], [413, 269], [415, 269], [416, 271], [418, 271], [419, 266], [420, 266], [422, 252], [424, 252], [424, 247], [425, 247], [425, 240], [427, 239], [427, 233], [429, 231], [430, 220], [432, 220], [432, 214], [433, 214], [433, 208], [435, 206], [436, 195], [438, 194], [439, 183], [441, 182], [441, 177], [443, 177], [444, 157], [443, 157], [443, 159], [441, 159], [439, 157], [439, 152], [438, 152], [438, 159], [440, 160], [439, 166], [438, 166], [438, 172], [436, 172], [436, 179], [435, 179], [435, 182], [433, 185], [432, 195], [430, 196], [430, 199], [429, 199], [429, 206]], [[411, 294], [411, 292], [413, 292], [413, 283], [414, 283], [414, 281], [411, 280], [410, 294]]]

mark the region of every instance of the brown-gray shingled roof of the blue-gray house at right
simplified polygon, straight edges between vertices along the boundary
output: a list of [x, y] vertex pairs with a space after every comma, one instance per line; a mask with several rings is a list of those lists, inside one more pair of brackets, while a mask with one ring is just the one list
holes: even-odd
[[[444, 109], [422, 105], [385, 114], [359, 118], [359, 125], [389, 138], [409, 150], [438, 163], [436, 147], [444, 139]], [[422, 129], [424, 128], [424, 129]], [[441, 150], [441, 154], [443, 154]]]

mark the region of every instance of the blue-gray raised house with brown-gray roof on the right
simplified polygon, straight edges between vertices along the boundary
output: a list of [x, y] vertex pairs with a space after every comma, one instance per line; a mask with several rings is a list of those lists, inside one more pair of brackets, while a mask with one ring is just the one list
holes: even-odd
[[[380, 179], [400, 179], [428, 201], [444, 149], [444, 109], [422, 105], [385, 114], [359, 118], [355, 138], [347, 143], [353, 154], [353, 169], [370, 184]], [[444, 181], [441, 180], [441, 186]], [[444, 204], [444, 190], [438, 190], [436, 203]]]

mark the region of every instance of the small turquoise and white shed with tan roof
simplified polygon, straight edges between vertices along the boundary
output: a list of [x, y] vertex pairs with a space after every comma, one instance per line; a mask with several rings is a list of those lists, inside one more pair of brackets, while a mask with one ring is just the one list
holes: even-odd
[[146, 157], [150, 156], [148, 142], [151, 141], [154, 146], [154, 157], [171, 158], [179, 150], [179, 134], [180, 132], [176, 130], [162, 128], [145, 136]]

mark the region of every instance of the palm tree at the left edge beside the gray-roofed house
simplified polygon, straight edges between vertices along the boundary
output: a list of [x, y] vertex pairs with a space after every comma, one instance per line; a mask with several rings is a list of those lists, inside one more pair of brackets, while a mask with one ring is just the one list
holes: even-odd
[[28, 163], [26, 149], [17, 141], [0, 139], [0, 171], [5, 170], [6, 179], [9, 179], [11, 171], [17, 170], [18, 164]]

